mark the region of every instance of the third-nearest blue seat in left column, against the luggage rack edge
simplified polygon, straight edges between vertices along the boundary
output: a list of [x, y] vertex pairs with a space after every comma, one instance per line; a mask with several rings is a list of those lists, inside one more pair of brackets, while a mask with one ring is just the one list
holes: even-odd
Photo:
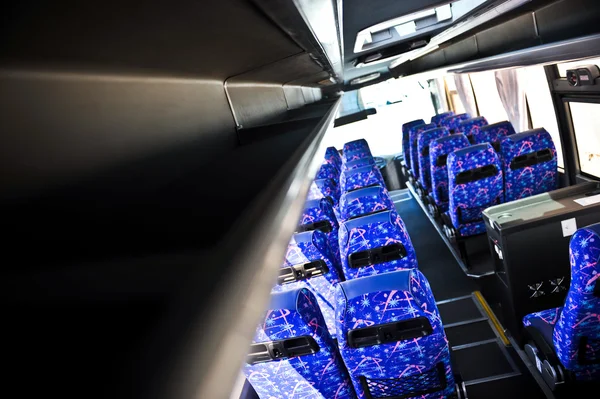
[[321, 198], [306, 201], [297, 232], [321, 230], [327, 234], [333, 255], [340, 259], [339, 227], [333, 204], [327, 198]]

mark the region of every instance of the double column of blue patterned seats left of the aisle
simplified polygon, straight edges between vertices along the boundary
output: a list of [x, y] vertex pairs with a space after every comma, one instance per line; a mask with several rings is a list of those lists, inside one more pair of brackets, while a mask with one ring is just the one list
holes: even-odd
[[370, 150], [351, 142], [338, 156], [327, 150], [324, 166], [335, 172], [311, 189], [246, 378], [264, 399], [451, 397], [435, 299]]

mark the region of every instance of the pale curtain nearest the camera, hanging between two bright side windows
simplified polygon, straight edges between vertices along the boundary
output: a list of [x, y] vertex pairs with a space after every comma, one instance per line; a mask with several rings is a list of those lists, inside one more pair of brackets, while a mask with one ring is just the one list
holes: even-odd
[[516, 132], [524, 132], [529, 129], [527, 117], [527, 102], [525, 99], [525, 87], [519, 84], [519, 74], [516, 69], [504, 69], [496, 71], [496, 87], [500, 100], [510, 123]]

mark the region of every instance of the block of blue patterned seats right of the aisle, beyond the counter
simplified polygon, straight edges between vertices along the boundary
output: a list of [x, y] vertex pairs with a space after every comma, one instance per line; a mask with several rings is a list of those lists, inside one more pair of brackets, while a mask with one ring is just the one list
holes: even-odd
[[402, 130], [415, 183], [458, 236], [484, 233], [481, 212], [490, 206], [558, 188], [556, 148], [544, 129], [515, 133], [510, 122], [446, 113]]

